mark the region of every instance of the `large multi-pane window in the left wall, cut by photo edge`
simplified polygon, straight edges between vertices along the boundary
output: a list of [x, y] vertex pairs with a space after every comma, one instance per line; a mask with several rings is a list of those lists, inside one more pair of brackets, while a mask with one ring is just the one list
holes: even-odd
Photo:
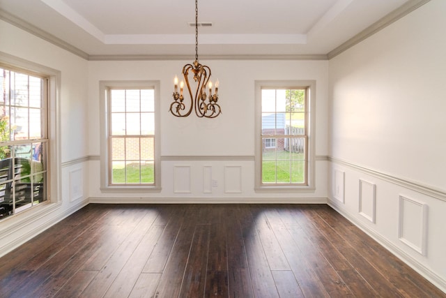
[[47, 200], [49, 79], [0, 65], [0, 218]]

